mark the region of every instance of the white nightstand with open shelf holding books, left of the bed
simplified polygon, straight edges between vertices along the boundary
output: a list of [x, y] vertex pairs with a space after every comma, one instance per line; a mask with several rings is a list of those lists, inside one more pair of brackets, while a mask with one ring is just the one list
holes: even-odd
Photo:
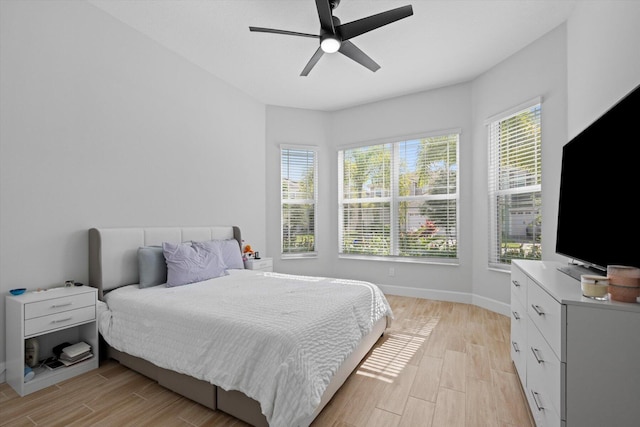
[[[89, 286], [53, 288], [6, 297], [7, 383], [24, 396], [98, 367], [98, 290]], [[84, 341], [93, 357], [54, 371], [35, 367], [35, 377], [24, 382], [25, 340], [38, 340], [38, 359], [53, 355], [53, 348]]]

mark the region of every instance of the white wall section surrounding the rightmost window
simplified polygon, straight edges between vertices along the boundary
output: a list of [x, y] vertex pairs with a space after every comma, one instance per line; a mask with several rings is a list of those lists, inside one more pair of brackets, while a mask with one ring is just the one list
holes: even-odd
[[485, 120], [542, 97], [542, 257], [554, 259], [562, 146], [567, 141], [566, 26], [561, 25], [473, 82], [473, 294], [509, 304], [508, 272], [488, 268]]

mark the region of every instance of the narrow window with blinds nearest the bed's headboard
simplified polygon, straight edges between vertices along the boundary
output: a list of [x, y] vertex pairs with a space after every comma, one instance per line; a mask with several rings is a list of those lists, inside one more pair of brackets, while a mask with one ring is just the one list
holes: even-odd
[[314, 148], [280, 148], [283, 257], [315, 255], [317, 174]]

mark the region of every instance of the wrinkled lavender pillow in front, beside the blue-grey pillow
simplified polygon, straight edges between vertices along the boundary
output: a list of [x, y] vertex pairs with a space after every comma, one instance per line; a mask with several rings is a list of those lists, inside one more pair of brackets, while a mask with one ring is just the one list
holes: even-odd
[[167, 261], [167, 286], [181, 286], [225, 275], [220, 248], [193, 243], [162, 244]]

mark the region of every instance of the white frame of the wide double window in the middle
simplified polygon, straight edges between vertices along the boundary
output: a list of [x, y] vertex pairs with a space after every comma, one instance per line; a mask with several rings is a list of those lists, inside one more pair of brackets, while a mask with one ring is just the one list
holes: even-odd
[[[398, 250], [398, 242], [399, 242], [399, 224], [397, 219], [398, 211], [399, 211], [399, 203], [402, 201], [408, 201], [412, 197], [413, 200], [425, 200], [425, 199], [441, 199], [442, 195], [431, 195], [420, 196], [416, 198], [415, 196], [400, 196], [399, 195], [399, 185], [398, 185], [398, 177], [399, 177], [399, 162], [397, 160], [393, 160], [391, 162], [391, 170], [393, 173], [391, 174], [390, 182], [391, 189], [389, 190], [388, 197], [379, 197], [372, 199], [375, 202], [385, 202], [387, 201], [390, 204], [390, 232], [389, 237], [391, 239], [390, 243], [390, 251], [393, 251], [391, 255], [376, 255], [376, 254], [353, 254], [353, 253], [344, 253], [343, 252], [343, 232], [344, 232], [344, 217], [343, 217], [343, 206], [348, 204], [348, 202], [344, 199], [344, 152], [346, 150], [363, 148], [363, 147], [374, 147], [385, 144], [391, 145], [391, 152], [393, 156], [397, 156], [398, 147], [400, 144], [412, 141], [412, 140], [421, 140], [428, 139], [434, 137], [443, 137], [443, 136], [451, 136], [455, 135], [457, 137], [456, 140], [456, 183], [455, 183], [455, 194], [445, 196], [450, 200], [455, 202], [456, 213], [455, 213], [455, 242], [456, 242], [456, 250], [455, 257], [443, 257], [443, 256], [402, 256], [397, 254]], [[339, 146], [337, 148], [336, 157], [338, 163], [338, 258], [344, 259], [355, 259], [355, 260], [367, 260], [367, 261], [392, 261], [392, 262], [407, 262], [407, 263], [416, 263], [416, 264], [436, 264], [436, 265], [458, 265], [459, 263], [459, 255], [460, 255], [460, 140], [462, 136], [461, 128], [453, 128], [453, 129], [445, 129], [439, 131], [431, 131], [431, 132], [421, 132], [417, 134], [404, 135], [399, 137], [391, 137], [385, 139], [378, 139], [373, 141], [364, 141], [355, 144], [346, 144]], [[387, 200], [389, 199], [389, 200]], [[346, 199], [346, 200], [358, 200], [358, 199]], [[363, 198], [362, 200], [369, 201], [367, 198]]]

